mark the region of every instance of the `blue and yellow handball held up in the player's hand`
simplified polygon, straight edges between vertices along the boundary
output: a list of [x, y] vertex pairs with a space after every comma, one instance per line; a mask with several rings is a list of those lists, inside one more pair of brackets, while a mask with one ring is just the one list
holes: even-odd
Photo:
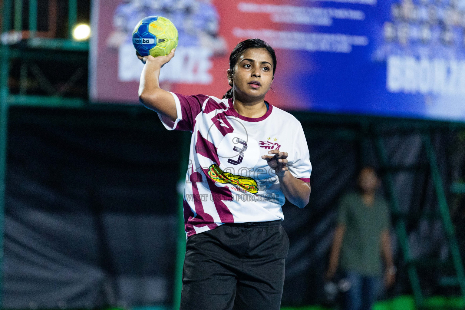
[[141, 56], [168, 55], [178, 46], [178, 29], [171, 20], [162, 16], [148, 16], [133, 31], [133, 45]]

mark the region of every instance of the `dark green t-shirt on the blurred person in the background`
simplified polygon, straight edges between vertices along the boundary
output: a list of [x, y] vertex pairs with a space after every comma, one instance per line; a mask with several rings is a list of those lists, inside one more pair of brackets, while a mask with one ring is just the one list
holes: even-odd
[[377, 196], [370, 207], [359, 193], [346, 194], [339, 205], [338, 224], [345, 224], [341, 268], [366, 276], [379, 276], [381, 232], [391, 227], [385, 199]]

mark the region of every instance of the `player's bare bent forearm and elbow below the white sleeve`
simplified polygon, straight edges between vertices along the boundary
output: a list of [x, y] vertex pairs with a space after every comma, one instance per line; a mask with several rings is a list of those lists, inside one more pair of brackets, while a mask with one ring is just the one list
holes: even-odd
[[284, 196], [292, 204], [303, 208], [308, 204], [310, 199], [310, 184], [298, 178], [295, 178], [289, 170], [285, 171], [282, 176], [278, 176], [279, 184]]

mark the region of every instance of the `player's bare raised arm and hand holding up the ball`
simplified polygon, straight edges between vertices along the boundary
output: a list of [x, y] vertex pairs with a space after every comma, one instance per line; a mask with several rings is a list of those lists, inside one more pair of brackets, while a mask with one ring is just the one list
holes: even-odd
[[166, 56], [140, 56], [137, 57], [145, 64], [139, 83], [139, 101], [147, 108], [158, 112], [171, 120], [176, 120], [176, 104], [173, 95], [160, 88], [159, 76], [161, 67], [174, 56], [174, 50]]

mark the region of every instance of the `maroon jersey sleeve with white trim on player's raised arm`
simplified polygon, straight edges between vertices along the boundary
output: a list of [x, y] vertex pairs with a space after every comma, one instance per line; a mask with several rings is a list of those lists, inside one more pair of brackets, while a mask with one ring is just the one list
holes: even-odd
[[176, 104], [176, 120], [172, 121], [166, 116], [158, 113], [161, 123], [168, 130], [193, 131], [194, 120], [202, 112], [203, 103], [209, 98], [206, 95], [186, 96], [179, 93], [170, 92]]

